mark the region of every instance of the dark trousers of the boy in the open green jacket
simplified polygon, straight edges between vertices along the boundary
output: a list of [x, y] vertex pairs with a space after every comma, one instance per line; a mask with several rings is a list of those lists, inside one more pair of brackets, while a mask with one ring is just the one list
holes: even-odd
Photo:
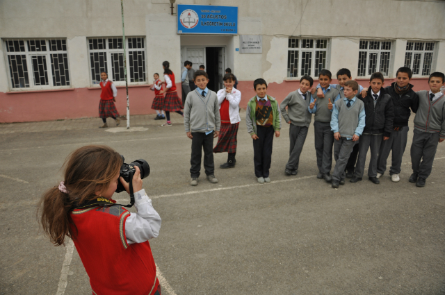
[[253, 141], [253, 162], [257, 177], [269, 177], [274, 133], [273, 126], [257, 126], [258, 139]]

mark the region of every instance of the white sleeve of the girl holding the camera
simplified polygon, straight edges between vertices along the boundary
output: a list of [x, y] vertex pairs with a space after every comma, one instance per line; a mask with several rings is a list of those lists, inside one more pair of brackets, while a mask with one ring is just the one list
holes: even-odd
[[145, 194], [145, 189], [134, 193], [137, 213], [131, 213], [125, 220], [125, 235], [128, 244], [143, 243], [157, 237], [161, 229], [161, 217]]

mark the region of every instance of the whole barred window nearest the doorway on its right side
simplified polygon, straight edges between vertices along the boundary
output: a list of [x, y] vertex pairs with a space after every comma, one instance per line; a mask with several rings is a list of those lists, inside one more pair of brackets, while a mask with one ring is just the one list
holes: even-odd
[[289, 38], [287, 53], [287, 76], [289, 78], [304, 75], [318, 76], [328, 67], [327, 51], [330, 47], [327, 39]]

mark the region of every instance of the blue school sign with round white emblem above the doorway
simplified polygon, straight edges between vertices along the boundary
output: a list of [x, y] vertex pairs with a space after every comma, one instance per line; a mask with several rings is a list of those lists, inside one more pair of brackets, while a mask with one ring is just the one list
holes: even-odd
[[238, 34], [238, 7], [178, 4], [178, 34]]

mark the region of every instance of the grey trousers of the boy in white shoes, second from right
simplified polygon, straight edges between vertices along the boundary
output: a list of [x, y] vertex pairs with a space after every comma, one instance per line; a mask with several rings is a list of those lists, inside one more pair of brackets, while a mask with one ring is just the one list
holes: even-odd
[[387, 169], [387, 159], [392, 151], [391, 168], [389, 175], [401, 173], [403, 153], [405, 153], [406, 143], [408, 140], [408, 126], [401, 127], [399, 131], [392, 131], [389, 140], [385, 140], [380, 145], [377, 160], [377, 172], [384, 174]]

